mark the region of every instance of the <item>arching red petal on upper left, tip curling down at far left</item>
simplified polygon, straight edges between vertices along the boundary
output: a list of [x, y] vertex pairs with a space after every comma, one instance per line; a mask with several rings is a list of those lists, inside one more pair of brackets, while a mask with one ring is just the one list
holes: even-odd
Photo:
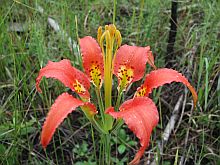
[[[69, 87], [73, 91], [77, 92], [80, 96], [89, 98], [88, 89], [90, 88], [90, 82], [87, 76], [80, 70], [72, 67], [69, 60], [61, 60], [60, 62], [51, 62], [40, 70], [40, 73], [36, 79], [36, 88], [39, 92], [41, 89], [39, 87], [42, 77], [55, 78], [61, 81], [66, 87]], [[76, 91], [74, 84], [81, 84], [84, 89], [83, 92]]]

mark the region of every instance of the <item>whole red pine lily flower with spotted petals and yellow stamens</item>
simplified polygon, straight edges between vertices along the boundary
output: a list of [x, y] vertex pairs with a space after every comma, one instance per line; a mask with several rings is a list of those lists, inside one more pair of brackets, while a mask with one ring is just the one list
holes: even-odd
[[[39, 84], [45, 76], [58, 79], [78, 94], [78, 97], [74, 98], [68, 93], [63, 93], [55, 100], [44, 122], [41, 144], [45, 148], [64, 118], [77, 107], [81, 107], [85, 116], [102, 134], [111, 134], [112, 130], [121, 125], [123, 119], [128, 128], [140, 139], [141, 148], [130, 162], [130, 164], [138, 164], [149, 145], [151, 132], [159, 121], [157, 108], [148, 97], [152, 90], [166, 83], [181, 82], [192, 92], [194, 105], [197, 94], [188, 80], [177, 71], [167, 68], [156, 69], [149, 46], [121, 46], [121, 34], [114, 25], [106, 25], [104, 32], [102, 27], [99, 27], [98, 42], [90, 36], [79, 41], [85, 73], [71, 66], [71, 62], [65, 59], [60, 62], [49, 61], [40, 70], [36, 79], [36, 87], [40, 92]], [[145, 82], [137, 89], [134, 98], [121, 104], [121, 97], [128, 86], [143, 78], [146, 63], [155, 70], [146, 76]], [[114, 107], [112, 105], [113, 75], [118, 80], [118, 97]], [[90, 101], [90, 83], [94, 86], [98, 107]], [[102, 86], [104, 86], [104, 96], [101, 92]], [[109, 164], [109, 160], [107, 163]]]

